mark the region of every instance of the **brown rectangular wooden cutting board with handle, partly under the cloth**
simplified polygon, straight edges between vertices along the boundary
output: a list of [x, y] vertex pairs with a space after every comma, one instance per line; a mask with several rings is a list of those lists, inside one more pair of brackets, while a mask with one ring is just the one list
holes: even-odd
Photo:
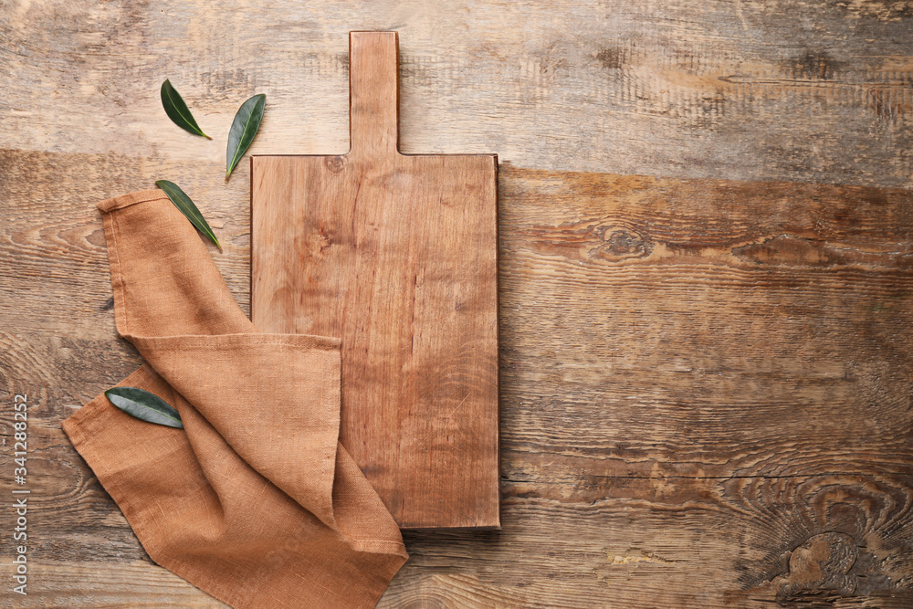
[[341, 442], [401, 527], [498, 527], [498, 158], [398, 152], [397, 35], [349, 46], [351, 150], [251, 159], [251, 319], [341, 338]]

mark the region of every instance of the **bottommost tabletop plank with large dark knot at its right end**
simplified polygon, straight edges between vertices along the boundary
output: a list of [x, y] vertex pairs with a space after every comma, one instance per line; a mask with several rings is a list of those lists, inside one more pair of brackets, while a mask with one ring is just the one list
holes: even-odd
[[[79, 593], [79, 606], [113, 606], [161, 585], [159, 606], [208, 606], [204, 593], [152, 568], [96, 483], [61, 492], [74, 480], [54, 466], [62, 456], [38, 457], [34, 600]], [[817, 590], [830, 591], [834, 606], [899, 609], [913, 598], [902, 580], [911, 568], [905, 506], [913, 478], [879, 467], [863, 475], [538, 478], [504, 488], [509, 527], [500, 532], [407, 532], [412, 559], [381, 606], [761, 607]], [[847, 537], [858, 540], [855, 550]], [[834, 570], [840, 562], [813, 572], [808, 553], [832, 547], [856, 560], [845, 573]], [[87, 555], [94, 568], [80, 559]], [[148, 567], [131, 572], [138, 561]], [[695, 583], [696, 573], [707, 580]], [[77, 576], [93, 584], [75, 585]]]

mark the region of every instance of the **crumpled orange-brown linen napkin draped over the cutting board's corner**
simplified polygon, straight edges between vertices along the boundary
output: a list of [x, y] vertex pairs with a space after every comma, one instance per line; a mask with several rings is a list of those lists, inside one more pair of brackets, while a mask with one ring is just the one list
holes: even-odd
[[120, 385], [184, 429], [101, 394], [64, 431], [153, 561], [234, 607], [371, 607], [403, 537], [339, 443], [340, 341], [257, 333], [160, 190], [99, 204], [117, 329], [146, 360]]

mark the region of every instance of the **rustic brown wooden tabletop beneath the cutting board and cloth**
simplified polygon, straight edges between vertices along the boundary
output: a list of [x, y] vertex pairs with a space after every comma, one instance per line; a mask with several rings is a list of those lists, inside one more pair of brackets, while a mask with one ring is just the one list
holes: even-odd
[[247, 310], [227, 128], [266, 93], [251, 152], [345, 152], [350, 29], [400, 32], [404, 152], [502, 163], [503, 529], [407, 533], [381, 605], [913, 606], [910, 0], [0, 0], [5, 606], [222, 606], [60, 429], [140, 362], [94, 204], [181, 184]]

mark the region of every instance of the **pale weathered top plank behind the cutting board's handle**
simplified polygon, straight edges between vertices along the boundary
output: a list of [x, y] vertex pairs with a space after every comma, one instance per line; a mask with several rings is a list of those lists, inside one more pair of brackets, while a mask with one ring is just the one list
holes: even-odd
[[[403, 152], [498, 152], [567, 171], [913, 184], [903, 2], [795, 0], [784, 11], [781, 0], [467, 0], [453, 11], [257, 0], [231, 19], [210, 0], [163, 10], [127, 0], [104, 10], [88, 0], [12, 6], [0, 12], [4, 147], [205, 159], [213, 172], [200, 185], [216, 196], [225, 195], [215, 190], [224, 134], [255, 93], [268, 108], [252, 152], [348, 149], [354, 27], [404, 32]], [[158, 99], [164, 79], [222, 143], [173, 127]], [[241, 184], [247, 166], [236, 171]]]

